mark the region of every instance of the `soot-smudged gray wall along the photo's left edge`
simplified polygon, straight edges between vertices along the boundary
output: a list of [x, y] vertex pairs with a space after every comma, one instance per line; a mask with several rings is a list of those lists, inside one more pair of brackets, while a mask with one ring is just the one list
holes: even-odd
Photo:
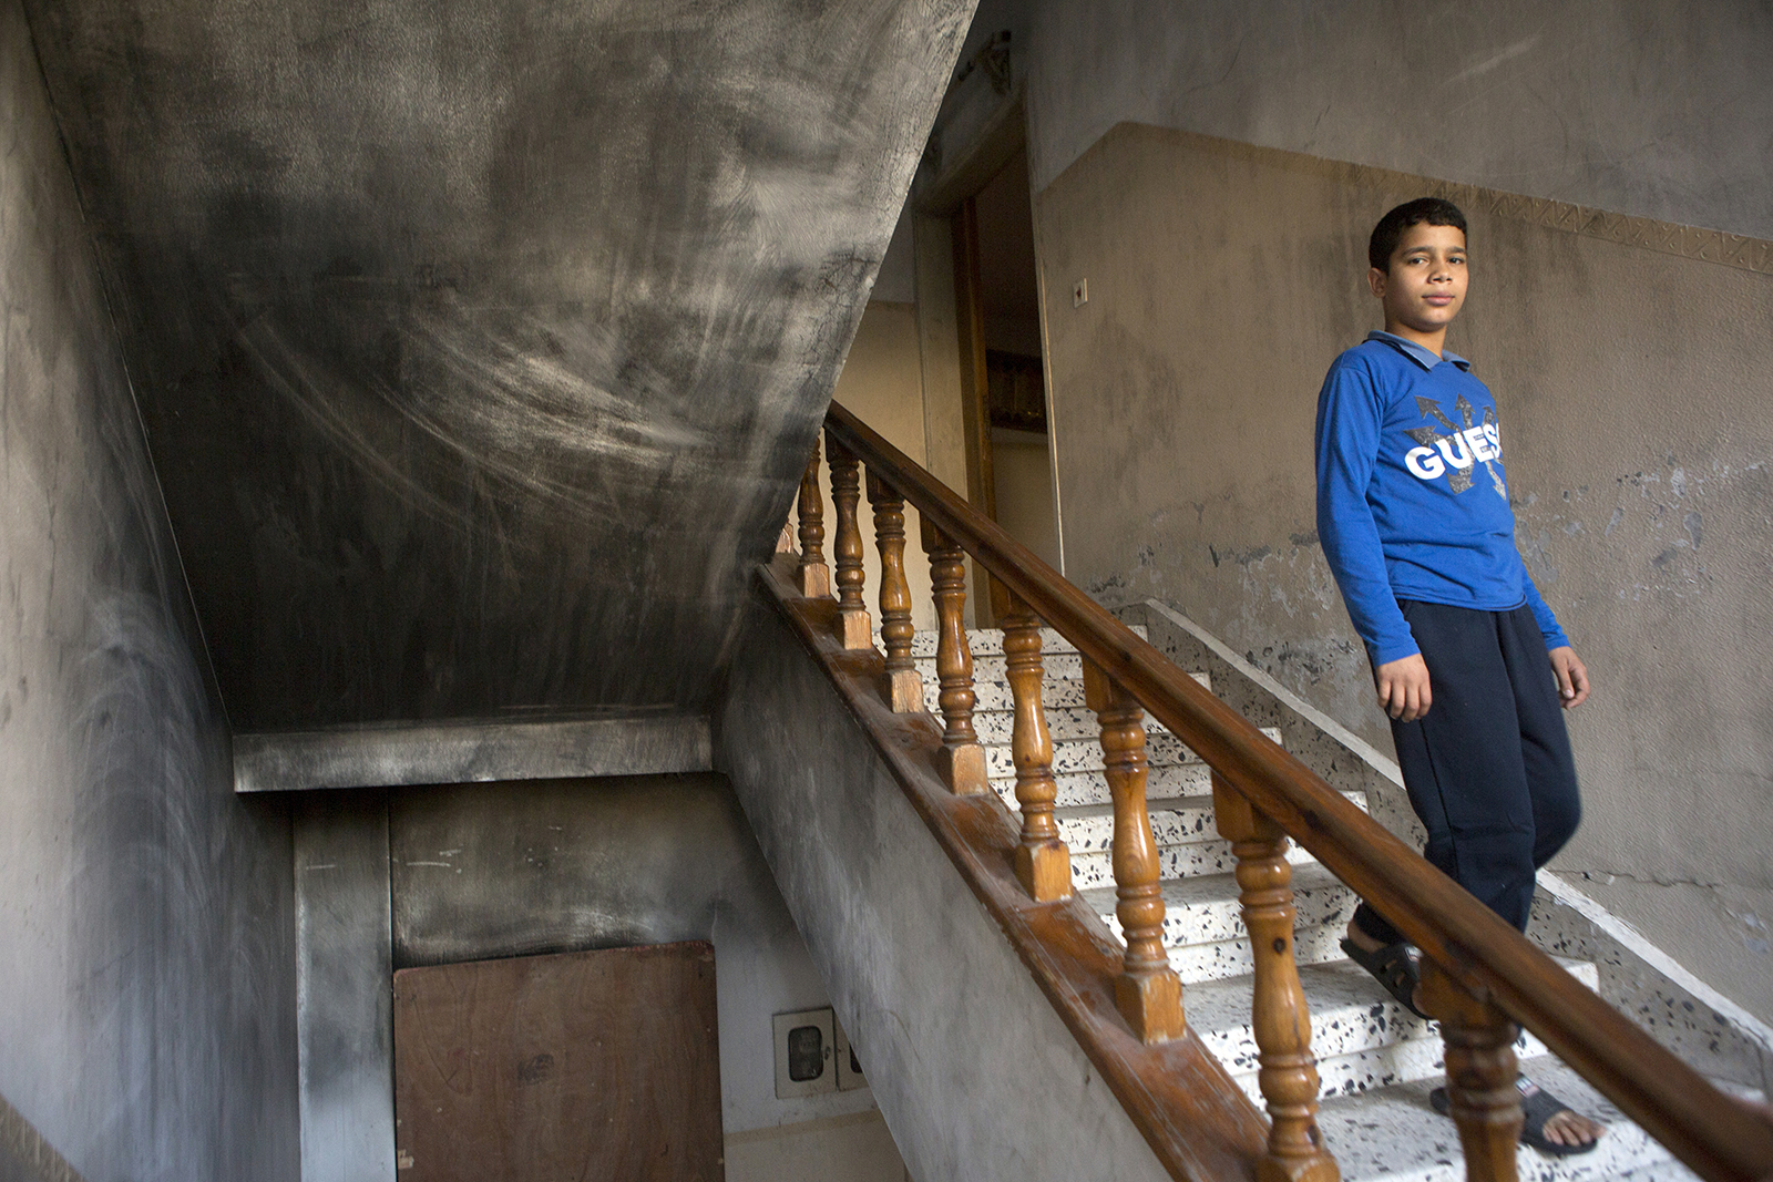
[[289, 826], [234, 797], [16, 0], [0, 128], [0, 1095], [89, 1182], [293, 1180]]

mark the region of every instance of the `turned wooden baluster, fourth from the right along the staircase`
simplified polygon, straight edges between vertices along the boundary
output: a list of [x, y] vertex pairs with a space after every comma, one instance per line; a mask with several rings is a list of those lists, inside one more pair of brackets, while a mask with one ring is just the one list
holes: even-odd
[[1053, 737], [1046, 730], [1041, 702], [1041, 620], [1018, 595], [1004, 613], [1004, 665], [1016, 728], [1011, 753], [1016, 758], [1016, 803], [1021, 805], [1021, 842], [1016, 845], [1016, 877], [1035, 902], [1071, 897], [1071, 851], [1053, 822]]

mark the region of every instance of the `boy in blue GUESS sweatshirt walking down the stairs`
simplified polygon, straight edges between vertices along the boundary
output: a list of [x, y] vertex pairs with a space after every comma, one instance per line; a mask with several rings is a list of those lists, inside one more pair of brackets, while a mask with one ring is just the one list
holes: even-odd
[[[1582, 806], [1564, 730], [1583, 668], [1514, 548], [1496, 402], [1445, 351], [1466, 292], [1464, 214], [1424, 197], [1367, 246], [1385, 331], [1317, 397], [1317, 535], [1392, 716], [1424, 856], [1523, 932], [1534, 872]], [[1546, 668], [1550, 665], [1550, 670]], [[1344, 952], [1420, 1014], [1402, 934], [1362, 904]], [[1603, 1127], [1521, 1077], [1521, 1139], [1592, 1150]], [[1434, 1106], [1445, 1111], [1445, 1092]]]

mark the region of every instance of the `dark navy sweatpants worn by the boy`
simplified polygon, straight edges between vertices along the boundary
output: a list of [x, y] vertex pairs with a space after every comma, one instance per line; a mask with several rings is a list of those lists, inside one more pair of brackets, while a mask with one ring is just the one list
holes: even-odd
[[[1399, 601], [1429, 666], [1433, 704], [1392, 723], [1422, 856], [1527, 930], [1534, 872], [1582, 820], [1557, 679], [1527, 606], [1477, 611]], [[1355, 920], [1390, 945], [1402, 934], [1362, 904]]]

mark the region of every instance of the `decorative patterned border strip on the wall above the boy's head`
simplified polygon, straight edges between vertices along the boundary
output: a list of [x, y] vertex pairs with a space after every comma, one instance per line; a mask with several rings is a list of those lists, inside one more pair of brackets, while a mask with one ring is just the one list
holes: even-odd
[[[1699, 262], [1716, 262], [1718, 266], [1753, 271], [1755, 275], [1773, 275], [1773, 241], [1764, 237], [1746, 237], [1743, 234], [1725, 234], [1723, 230], [1706, 230], [1695, 225], [1675, 222], [1658, 222], [1654, 218], [1635, 218], [1590, 206], [1573, 206], [1569, 202], [1546, 197], [1525, 197], [1521, 193], [1504, 193], [1500, 190], [1468, 184], [1464, 181], [1440, 181], [1422, 177], [1395, 168], [1378, 168], [1374, 165], [1356, 165], [1344, 159], [1289, 152], [1278, 147], [1261, 147], [1243, 140], [1223, 140], [1199, 131], [1179, 128], [1160, 128], [1156, 124], [1121, 122], [1110, 128], [1087, 152], [1078, 156], [1051, 184], [1076, 168], [1108, 138], [1117, 135], [1158, 135], [1191, 144], [1197, 151], [1229, 156], [1232, 159], [1261, 159], [1296, 172], [1333, 179], [1340, 184], [1360, 188], [1394, 190], [1399, 193], [1429, 193], [1466, 209], [1480, 209], [1496, 218], [1525, 222], [1528, 225], [1599, 237], [1621, 246], [1638, 246], [1663, 255], [1695, 259]], [[1048, 188], [1051, 188], [1048, 184]]]

